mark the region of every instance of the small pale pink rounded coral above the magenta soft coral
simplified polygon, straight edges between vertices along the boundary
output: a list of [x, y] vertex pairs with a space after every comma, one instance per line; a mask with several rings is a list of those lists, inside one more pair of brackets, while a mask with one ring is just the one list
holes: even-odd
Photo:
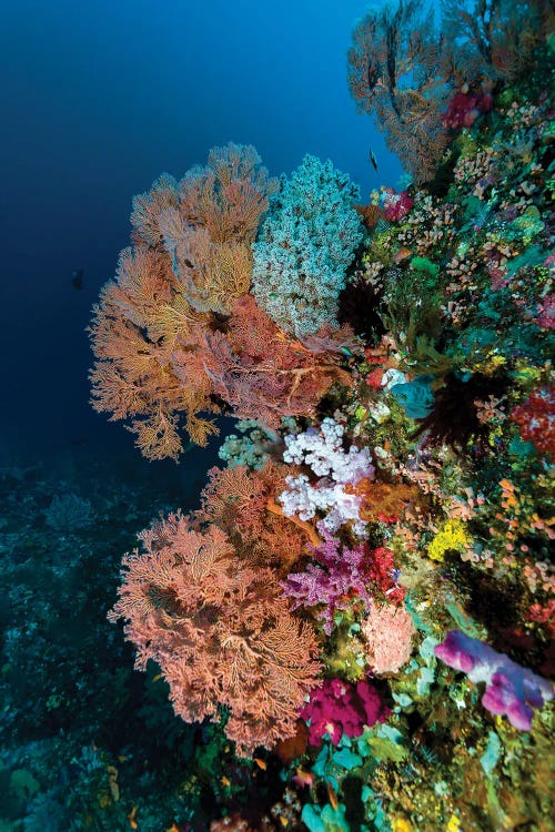
[[376, 676], [396, 673], [411, 658], [416, 630], [404, 606], [373, 603], [361, 632], [366, 641], [370, 668]]

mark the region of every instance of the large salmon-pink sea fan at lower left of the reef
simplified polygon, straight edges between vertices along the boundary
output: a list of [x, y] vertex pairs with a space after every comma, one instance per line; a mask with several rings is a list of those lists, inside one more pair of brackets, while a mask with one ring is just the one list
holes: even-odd
[[186, 722], [228, 706], [225, 733], [240, 754], [295, 732], [297, 709], [316, 683], [319, 646], [293, 617], [271, 569], [238, 557], [214, 525], [170, 515], [140, 535], [142, 551], [123, 559], [119, 601], [138, 669], [152, 659]]

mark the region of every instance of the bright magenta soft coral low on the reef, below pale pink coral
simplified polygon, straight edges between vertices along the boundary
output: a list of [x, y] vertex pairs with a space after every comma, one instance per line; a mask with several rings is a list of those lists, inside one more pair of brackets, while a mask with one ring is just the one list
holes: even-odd
[[324, 734], [330, 735], [334, 745], [339, 744], [343, 733], [360, 737], [365, 726], [384, 722], [390, 713], [377, 690], [365, 679], [356, 684], [324, 679], [300, 711], [302, 719], [310, 720], [311, 745], [321, 745]]

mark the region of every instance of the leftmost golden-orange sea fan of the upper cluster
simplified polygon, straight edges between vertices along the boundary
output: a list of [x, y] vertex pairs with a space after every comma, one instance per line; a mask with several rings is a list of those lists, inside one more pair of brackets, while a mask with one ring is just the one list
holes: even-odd
[[181, 414], [198, 444], [205, 444], [212, 430], [199, 416], [215, 409], [203, 366], [195, 378], [190, 373], [188, 386], [174, 366], [176, 339], [201, 319], [180, 295], [169, 256], [145, 246], [121, 253], [115, 280], [102, 288], [93, 308], [92, 405], [112, 419], [131, 418], [135, 444], [149, 459], [179, 456]]

